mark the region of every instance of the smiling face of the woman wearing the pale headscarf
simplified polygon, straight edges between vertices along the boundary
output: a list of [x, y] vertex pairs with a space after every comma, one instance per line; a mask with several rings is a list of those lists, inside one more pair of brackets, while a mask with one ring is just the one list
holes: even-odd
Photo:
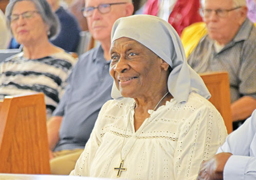
[[122, 37], [112, 43], [110, 54], [110, 74], [123, 97], [147, 97], [159, 92], [162, 70], [167, 71], [168, 64], [155, 53], [136, 40]]

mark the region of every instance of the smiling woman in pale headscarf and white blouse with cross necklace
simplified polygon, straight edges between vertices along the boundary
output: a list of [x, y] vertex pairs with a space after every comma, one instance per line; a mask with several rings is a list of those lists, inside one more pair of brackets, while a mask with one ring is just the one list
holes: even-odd
[[101, 108], [71, 175], [196, 179], [226, 128], [176, 31], [151, 15], [120, 18], [110, 53], [114, 100]]

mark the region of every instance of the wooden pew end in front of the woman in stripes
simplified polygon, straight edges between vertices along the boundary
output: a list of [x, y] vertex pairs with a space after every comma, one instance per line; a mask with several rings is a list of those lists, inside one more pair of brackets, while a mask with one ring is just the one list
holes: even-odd
[[4, 99], [0, 109], [0, 173], [50, 174], [44, 94]]

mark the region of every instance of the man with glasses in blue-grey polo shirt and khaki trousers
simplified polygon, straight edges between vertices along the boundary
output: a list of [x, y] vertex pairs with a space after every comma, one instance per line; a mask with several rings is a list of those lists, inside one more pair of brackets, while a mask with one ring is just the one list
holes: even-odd
[[133, 14], [131, 0], [86, 0], [83, 15], [100, 45], [79, 57], [66, 92], [48, 122], [52, 174], [69, 174], [86, 145], [101, 106], [111, 99], [111, 30]]

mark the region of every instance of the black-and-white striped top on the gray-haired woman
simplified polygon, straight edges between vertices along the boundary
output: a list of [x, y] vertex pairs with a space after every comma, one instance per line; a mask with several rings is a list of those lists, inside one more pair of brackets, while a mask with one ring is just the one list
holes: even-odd
[[66, 79], [76, 59], [65, 52], [39, 59], [27, 59], [23, 54], [18, 53], [0, 63], [0, 99], [42, 92], [49, 118], [64, 93]]

